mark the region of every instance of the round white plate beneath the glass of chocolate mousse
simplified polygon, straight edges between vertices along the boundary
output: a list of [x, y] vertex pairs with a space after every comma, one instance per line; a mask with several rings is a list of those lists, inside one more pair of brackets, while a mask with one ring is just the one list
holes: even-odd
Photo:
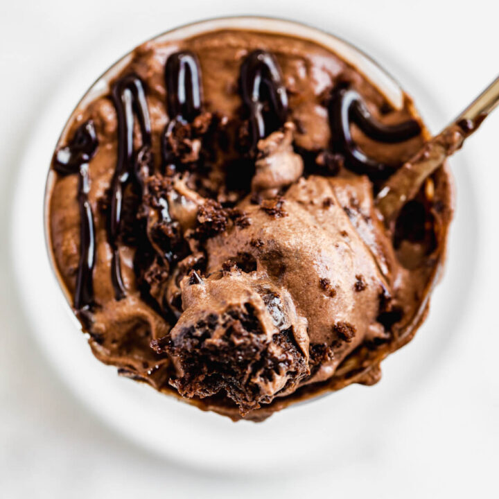
[[[90, 80], [89, 80], [90, 82]], [[414, 82], [413, 88], [418, 88]], [[44, 240], [44, 186], [53, 147], [78, 95], [75, 80], [60, 82], [53, 100], [30, 137], [21, 164], [13, 207], [13, 252], [17, 281], [37, 340], [65, 383], [109, 426], [155, 453], [204, 469], [276, 472], [299, 464], [303, 472], [317, 458], [345, 464], [373, 435], [389, 430], [405, 397], [428, 386], [448, 342], [459, 335], [460, 314], [473, 292], [473, 261], [478, 240], [473, 182], [466, 155], [453, 159], [459, 186], [459, 216], [450, 234], [449, 259], [443, 282], [432, 299], [430, 317], [417, 340], [383, 363], [385, 376], [375, 387], [354, 385], [317, 401], [298, 405], [254, 424], [232, 423], [201, 412], [153, 389], [116, 375], [91, 355], [79, 324], [69, 312], [51, 270]], [[421, 91], [421, 95], [429, 93]], [[419, 102], [444, 123], [437, 103]], [[466, 265], [463, 265], [466, 263]], [[452, 335], [450, 335], [452, 331]], [[369, 417], [367, 417], [367, 415]]]

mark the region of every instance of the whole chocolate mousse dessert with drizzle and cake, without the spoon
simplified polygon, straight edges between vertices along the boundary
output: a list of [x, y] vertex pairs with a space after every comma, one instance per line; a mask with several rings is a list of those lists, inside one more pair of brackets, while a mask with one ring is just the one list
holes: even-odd
[[425, 139], [410, 98], [394, 109], [314, 42], [139, 46], [49, 175], [53, 260], [94, 355], [234, 420], [376, 383], [444, 259], [446, 168], [396, 223], [376, 209]]

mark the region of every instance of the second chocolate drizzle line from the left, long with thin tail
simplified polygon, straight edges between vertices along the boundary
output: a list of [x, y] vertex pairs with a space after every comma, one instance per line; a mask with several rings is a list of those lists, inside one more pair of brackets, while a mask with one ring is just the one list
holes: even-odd
[[[112, 180], [111, 209], [108, 221], [108, 239], [113, 252], [111, 277], [117, 300], [125, 297], [125, 286], [121, 278], [121, 262], [118, 239], [121, 231], [121, 209], [123, 193], [130, 182], [142, 184], [141, 168], [152, 161], [151, 128], [146, 93], [141, 79], [134, 74], [117, 80], [112, 87], [112, 99], [118, 119], [118, 160]], [[141, 148], [134, 150], [134, 122], [139, 121]]]

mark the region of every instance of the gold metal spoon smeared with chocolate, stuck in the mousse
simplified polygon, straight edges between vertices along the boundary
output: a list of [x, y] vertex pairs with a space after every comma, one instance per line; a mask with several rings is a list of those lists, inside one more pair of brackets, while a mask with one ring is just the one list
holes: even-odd
[[376, 206], [387, 227], [395, 222], [404, 204], [419, 192], [423, 182], [447, 157], [462, 148], [467, 139], [499, 104], [499, 77], [482, 91], [450, 125], [426, 142], [383, 184], [376, 197]]

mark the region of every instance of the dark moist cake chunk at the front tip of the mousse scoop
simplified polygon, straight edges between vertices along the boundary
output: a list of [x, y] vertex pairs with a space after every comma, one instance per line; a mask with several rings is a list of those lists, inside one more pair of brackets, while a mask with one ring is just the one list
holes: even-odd
[[267, 385], [277, 376], [285, 376], [286, 389], [310, 374], [292, 331], [280, 331], [269, 342], [248, 303], [186, 324], [175, 339], [166, 335], [152, 340], [151, 347], [179, 359], [182, 377], [170, 384], [180, 394], [191, 398], [225, 392], [243, 415], [274, 398]]

